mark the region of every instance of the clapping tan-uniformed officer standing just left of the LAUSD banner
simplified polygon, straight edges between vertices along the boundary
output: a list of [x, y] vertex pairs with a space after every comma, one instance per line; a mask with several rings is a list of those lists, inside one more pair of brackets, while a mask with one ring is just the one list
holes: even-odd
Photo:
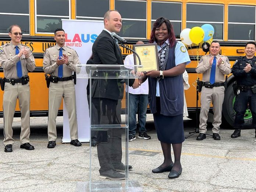
[[[77, 109], [75, 100], [75, 85], [72, 72], [80, 72], [76, 67], [80, 63], [74, 49], [65, 46], [65, 32], [63, 29], [54, 31], [56, 45], [46, 49], [43, 57], [43, 70], [50, 74], [49, 86], [49, 114], [48, 114], [48, 148], [56, 146], [56, 117], [62, 97], [68, 111], [71, 145], [81, 146], [78, 141]], [[57, 80], [57, 81], [56, 81]]]

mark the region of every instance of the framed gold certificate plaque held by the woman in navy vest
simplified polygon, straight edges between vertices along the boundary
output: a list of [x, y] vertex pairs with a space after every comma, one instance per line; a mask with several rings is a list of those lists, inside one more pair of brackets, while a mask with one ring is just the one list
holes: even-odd
[[[135, 67], [136, 72], [159, 70], [157, 43], [134, 45], [133, 49], [139, 55], [143, 65], [143, 67]], [[134, 64], [139, 65], [139, 59], [135, 54]]]

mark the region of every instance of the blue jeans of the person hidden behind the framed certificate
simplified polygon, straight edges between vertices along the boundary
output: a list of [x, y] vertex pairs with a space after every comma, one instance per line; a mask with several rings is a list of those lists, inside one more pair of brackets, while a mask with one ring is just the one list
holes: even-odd
[[129, 93], [129, 135], [136, 134], [136, 113], [138, 110], [139, 132], [146, 132], [148, 95]]

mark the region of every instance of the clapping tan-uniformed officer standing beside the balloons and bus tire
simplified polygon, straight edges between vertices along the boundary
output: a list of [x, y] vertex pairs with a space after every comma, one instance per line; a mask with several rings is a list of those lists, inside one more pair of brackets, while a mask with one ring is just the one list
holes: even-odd
[[230, 62], [226, 56], [219, 55], [220, 43], [213, 41], [210, 45], [210, 54], [202, 56], [196, 67], [196, 72], [203, 74], [203, 87], [201, 92], [201, 110], [200, 110], [200, 124], [199, 135], [196, 140], [206, 139], [206, 122], [208, 119], [208, 112], [210, 103], [213, 103], [213, 139], [220, 140], [220, 124], [222, 104], [224, 100], [224, 82], [225, 75], [230, 74]]

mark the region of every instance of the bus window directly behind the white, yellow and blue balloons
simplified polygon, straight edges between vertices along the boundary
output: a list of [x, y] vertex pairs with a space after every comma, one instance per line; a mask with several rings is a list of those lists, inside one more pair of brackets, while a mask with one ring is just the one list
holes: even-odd
[[[218, 14], [216, 14], [218, 13]], [[213, 39], [223, 40], [224, 6], [219, 4], [186, 4], [186, 27], [209, 23], [214, 27]]]

